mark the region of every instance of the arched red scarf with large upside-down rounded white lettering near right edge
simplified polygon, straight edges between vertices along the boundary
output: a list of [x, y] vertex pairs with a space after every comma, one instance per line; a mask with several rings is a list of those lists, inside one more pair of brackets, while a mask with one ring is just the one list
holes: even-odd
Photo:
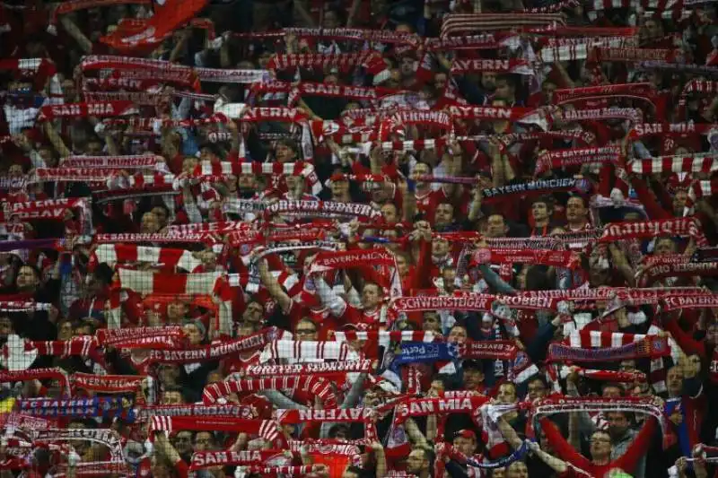
[[615, 242], [620, 239], [652, 239], [661, 236], [689, 236], [696, 240], [698, 246], [707, 244], [700, 223], [693, 217], [641, 222], [611, 222], [603, 229], [600, 242]]

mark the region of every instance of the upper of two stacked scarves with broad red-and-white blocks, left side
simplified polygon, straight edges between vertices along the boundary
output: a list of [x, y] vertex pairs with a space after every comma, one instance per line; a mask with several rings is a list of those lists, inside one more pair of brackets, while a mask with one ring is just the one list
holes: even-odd
[[189, 273], [195, 272], [202, 261], [184, 249], [153, 248], [136, 246], [134, 244], [101, 244], [90, 257], [91, 264], [148, 262], [152, 265], [162, 265], [162, 268], [174, 269], [180, 267]]

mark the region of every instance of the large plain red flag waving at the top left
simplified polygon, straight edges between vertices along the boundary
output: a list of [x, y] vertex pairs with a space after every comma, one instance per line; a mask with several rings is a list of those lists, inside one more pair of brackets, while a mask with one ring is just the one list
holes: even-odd
[[209, 0], [154, 0], [154, 15], [146, 22], [133, 21], [102, 37], [102, 43], [129, 53], [139, 48], [156, 47], [189, 22]]

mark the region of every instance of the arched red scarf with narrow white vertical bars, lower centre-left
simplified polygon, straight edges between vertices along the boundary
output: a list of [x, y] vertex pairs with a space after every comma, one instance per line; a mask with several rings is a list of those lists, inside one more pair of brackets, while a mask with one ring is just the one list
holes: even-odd
[[253, 393], [260, 390], [302, 390], [317, 396], [327, 408], [337, 406], [337, 395], [332, 389], [332, 382], [320, 377], [272, 377], [241, 380], [225, 380], [205, 387], [202, 392], [204, 404], [215, 404], [220, 398], [232, 394]]

